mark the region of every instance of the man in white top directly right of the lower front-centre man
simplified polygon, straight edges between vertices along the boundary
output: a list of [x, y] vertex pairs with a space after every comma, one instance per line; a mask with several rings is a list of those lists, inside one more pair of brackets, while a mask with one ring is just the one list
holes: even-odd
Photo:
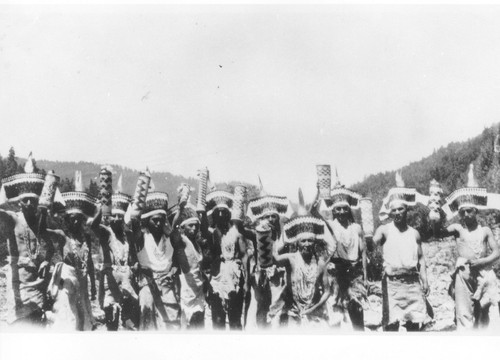
[[[360, 197], [337, 181], [328, 201], [333, 220], [325, 221], [336, 240], [335, 252], [330, 258], [330, 263], [334, 266], [330, 267], [335, 268], [333, 272], [336, 276], [331, 282], [338, 289], [335, 291], [336, 298], [332, 299], [334, 304], [331, 310], [341, 313], [347, 311], [353, 329], [364, 331], [363, 307], [367, 304], [366, 244], [363, 230], [354, 222], [351, 209], [358, 206]], [[318, 198], [319, 191], [315, 204], [318, 203]]]

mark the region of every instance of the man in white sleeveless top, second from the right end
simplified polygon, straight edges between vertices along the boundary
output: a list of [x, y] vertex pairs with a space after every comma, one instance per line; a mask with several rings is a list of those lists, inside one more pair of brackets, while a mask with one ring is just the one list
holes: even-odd
[[408, 225], [408, 206], [415, 203], [415, 189], [393, 188], [386, 199], [392, 221], [381, 225], [373, 243], [383, 249], [384, 331], [418, 331], [428, 320], [425, 296], [429, 294], [420, 234]]

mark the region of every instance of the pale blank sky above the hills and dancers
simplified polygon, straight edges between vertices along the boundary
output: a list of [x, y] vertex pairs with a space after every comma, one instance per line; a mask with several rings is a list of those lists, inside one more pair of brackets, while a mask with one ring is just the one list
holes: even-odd
[[500, 121], [500, 7], [0, 7], [0, 154], [314, 196]]

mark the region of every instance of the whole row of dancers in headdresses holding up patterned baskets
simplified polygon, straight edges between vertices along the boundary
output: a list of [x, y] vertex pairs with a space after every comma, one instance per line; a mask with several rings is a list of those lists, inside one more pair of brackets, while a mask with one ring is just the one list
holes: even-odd
[[[371, 200], [339, 181], [332, 188], [325, 165], [317, 167], [314, 202], [306, 206], [299, 189], [292, 206], [262, 187], [253, 199], [243, 185], [233, 192], [208, 189], [207, 169], [199, 171], [196, 202], [187, 184], [174, 201], [155, 191], [148, 172], [138, 175], [133, 196], [120, 181], [113, 191], [108, 167], [98, 174], [99, 199], [83, 191], [81, 176], [75, 191], [61, 194], [56, 174], [35, 172], [32, 161], [3, 179], [0, 191], [11, 326], [93, 330], [95, 299], [110, 331], [242, 330], [251, 323], [259, 329], [347, 323], [363, 331], [367, 251], [380, 246], [382, 329], [422, 330], [430, 319], [430, 287], [421, 234], [408, 224], [417, 203], [428, 208], [435, 237], [457, 240], [450, 274], [457, 327], [488, 326], [489, 308], [499, 301], [492, 269], [500, 253], [477, 212], [500, 201], [477, 184], [445, 199], [436, 181], [422, 195], [399, 178], [375, 230]], [[445, 226], [457, 214], [459, 222]]]

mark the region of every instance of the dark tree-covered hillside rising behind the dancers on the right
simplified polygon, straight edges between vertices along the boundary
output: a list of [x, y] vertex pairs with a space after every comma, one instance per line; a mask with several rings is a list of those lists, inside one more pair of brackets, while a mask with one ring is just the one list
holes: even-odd
[[[479, 185], [489, 192], [500, 192], [499, 154], [494, 152], [497, 134], [498, 125], [494, 125], [484, 129], [479, 136], [450, 143], [435, 150], [432, 155], [404, 166], [401, 174], [405, 185], [427, 195], [429, 182], [436, 179], [447, 196], [467, 184], [468, 167], [472, 163]], [[378, 211], [388, 190], [396, 186], [395, 173], [396, 170], [370, 175], [351, 188], [363, 196], [371, 197], [374, 209]]]

